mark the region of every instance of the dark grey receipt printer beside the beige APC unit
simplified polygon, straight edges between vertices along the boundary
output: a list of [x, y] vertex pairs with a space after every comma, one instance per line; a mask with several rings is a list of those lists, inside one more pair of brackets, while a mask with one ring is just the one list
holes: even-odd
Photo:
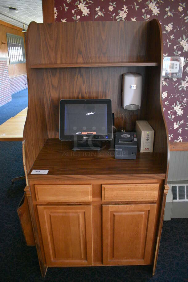
[[135, 160], [137, 155], [136, 132], [116, 132], [115, 158]]

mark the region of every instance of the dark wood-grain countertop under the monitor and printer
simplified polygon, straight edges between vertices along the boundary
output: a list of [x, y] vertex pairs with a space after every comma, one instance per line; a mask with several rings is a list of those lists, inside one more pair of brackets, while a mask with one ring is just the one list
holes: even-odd
[[[46, 176], [165, 173], [154, 153], [137, 152], [136, 160], [120, 160], [114, 158], [114, 150], [108, 150], [108, 144], [102, 151], [74, 152], [71, 141], [47, 139], [31, 171], [49, 170]], [[35, 175], [35, 178], [38, 176]]]

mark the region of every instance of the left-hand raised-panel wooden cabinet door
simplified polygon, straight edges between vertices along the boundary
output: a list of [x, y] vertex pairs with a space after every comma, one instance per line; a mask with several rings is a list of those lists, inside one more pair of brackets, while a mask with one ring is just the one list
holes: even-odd
[[91, 206], [37, 206], [47, 266], [93, 264]]

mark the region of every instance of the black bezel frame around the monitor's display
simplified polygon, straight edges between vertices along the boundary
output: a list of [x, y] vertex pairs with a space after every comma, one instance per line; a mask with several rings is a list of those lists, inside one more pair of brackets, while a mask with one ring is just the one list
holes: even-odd
[[[107, 135], [65, 135], [64, 117], [65, 117], [65, 105], [66, 104], [107, 104]], [[98, 136], [98, 138], [96, 138]], [[111, 99], [61, 99], [59, 102], [59, 140], [71, 141], [71, 140], [112, 140], [112, 100]]]

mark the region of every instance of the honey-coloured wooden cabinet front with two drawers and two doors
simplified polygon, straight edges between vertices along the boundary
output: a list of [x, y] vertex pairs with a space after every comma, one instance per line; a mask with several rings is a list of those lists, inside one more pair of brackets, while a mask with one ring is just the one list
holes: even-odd
[[160, 182], [101, 182], [33, 183], [48, 267], [153, 263]]

